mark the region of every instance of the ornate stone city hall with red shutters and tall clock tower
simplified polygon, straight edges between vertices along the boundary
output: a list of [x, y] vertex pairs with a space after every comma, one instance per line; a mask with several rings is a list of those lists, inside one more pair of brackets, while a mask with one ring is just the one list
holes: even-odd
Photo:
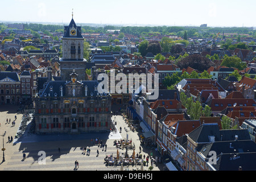
[[34, 98], [36, 133], [109, 131], [112, 96], [100, 94], [98, 81], [85, 78], [81, 27], [72, 18], [64, 30], [61, 79], [53, 80], [49, 69], [47, 81]]

